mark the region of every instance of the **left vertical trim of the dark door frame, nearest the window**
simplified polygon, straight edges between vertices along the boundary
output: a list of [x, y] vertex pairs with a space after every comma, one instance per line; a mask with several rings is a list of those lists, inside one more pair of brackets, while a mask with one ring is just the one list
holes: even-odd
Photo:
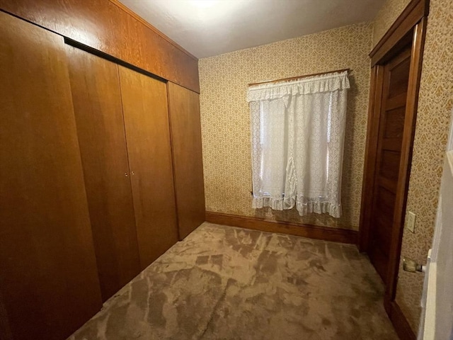
[[374, 65], [370, 81], [367, 143], [365, 145], [365, 166], [362, 180], [362, 203], [360, 208], [359, 249], [367, 251], [369, 244], [369, 223], [374, 193], [374, 174], [377, 159], [377, 142], [382, 102], [384, 67]]

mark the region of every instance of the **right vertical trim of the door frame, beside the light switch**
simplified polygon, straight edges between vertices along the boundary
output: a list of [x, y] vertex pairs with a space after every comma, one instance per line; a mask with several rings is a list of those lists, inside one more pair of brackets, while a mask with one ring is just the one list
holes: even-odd
[[388, 280], [386, 282], [386, 296], [393, 301], [396, 295], [399, 261], [401, 257], [401, 243], [403, 239], [404, 219], [406, 215], [407, 193], [411, 175], [411, 161], [415, 122], [418, 108], [418, 90], [423, 65], [423, 47], [425, 45], [427, 18], [423, 18], [413, 31], [413, 45], [411, 68], [409, 73], [408, 94], [406, 101], [406, 118], [404, 120], [403, 142], [401, 147], [401, 161], [396, 188], [394, 225], [391, 235], [390, 259]]

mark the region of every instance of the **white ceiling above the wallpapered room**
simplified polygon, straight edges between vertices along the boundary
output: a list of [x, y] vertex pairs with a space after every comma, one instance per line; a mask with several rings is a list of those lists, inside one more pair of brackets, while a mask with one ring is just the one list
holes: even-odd
[[120, 0], [195, 57], [372, 21], [385, 0]]

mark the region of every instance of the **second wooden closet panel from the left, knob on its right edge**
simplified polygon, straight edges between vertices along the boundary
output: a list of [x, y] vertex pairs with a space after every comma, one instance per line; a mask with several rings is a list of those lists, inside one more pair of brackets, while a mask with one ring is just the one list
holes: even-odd
[[66, 47], [103, 300], [140, 272], [117, 64]]

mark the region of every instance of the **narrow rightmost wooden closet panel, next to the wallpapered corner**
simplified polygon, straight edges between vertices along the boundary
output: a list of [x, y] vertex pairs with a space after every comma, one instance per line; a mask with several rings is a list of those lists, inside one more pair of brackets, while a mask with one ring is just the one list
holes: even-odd
[[205, 222], [199, 95], [168, 82], [179, 239]]

